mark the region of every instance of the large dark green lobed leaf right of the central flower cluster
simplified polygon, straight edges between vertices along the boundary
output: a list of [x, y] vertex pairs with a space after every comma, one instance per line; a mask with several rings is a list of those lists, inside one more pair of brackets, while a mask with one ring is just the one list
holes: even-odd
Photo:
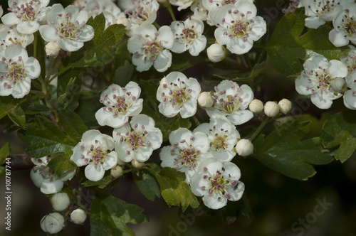
[[295, 120], [281, 124], [266, 136], [263, 144], [252, 155], [269, 168], [298, 180], [314, 176], [314, 165], [333, 161], [330, 154], [322, 149], [319, 138], [300, 141], [308, 134], [311, 122]]

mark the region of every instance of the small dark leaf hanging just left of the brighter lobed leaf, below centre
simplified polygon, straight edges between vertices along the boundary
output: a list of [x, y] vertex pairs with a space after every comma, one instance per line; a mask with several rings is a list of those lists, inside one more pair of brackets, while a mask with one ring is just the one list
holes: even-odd
[[[152, 170], [158, 172], [160, 167], [155, 163], [145, 163], [145, 166], [152, 168]], [[159, 183], [155, 176], [145, 168], [141, 168], [138, 171], [132, 172], [133, 179], [140, 192], [145, 195], [148, 200], [155, 200], [155, 196], [161, 197], [161, 191], [159, 190]]]

